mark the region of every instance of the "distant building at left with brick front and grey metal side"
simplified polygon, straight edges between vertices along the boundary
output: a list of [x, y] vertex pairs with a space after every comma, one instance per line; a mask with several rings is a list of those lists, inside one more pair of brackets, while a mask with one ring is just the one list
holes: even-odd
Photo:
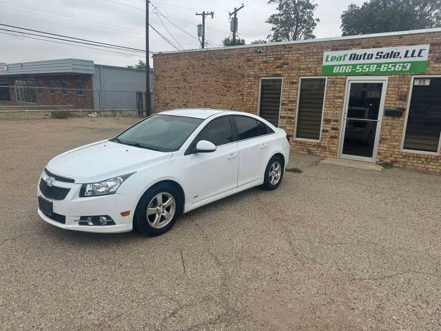
[[81, 59], [1, 63], [0, 86], [0, 101], [8, 109], [136, 109], [136, 92], [145, 91], [145, 71]]

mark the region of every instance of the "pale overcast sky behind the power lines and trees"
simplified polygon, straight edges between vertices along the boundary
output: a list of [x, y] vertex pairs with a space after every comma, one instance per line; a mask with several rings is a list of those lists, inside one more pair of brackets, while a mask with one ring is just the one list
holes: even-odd
[[[316, 37], [340, 36], [340, 15], [343, 10], [350, 3], [362, 2], [364, 1], [317, 0], [316, 17], [320, 19], [320, 23], [316, 28]], [[212, 45], [209, 47], [216, 47], [230, 34], [228, 12], [234, 10], [234, 7], [240, 7], [241, 3], [245, 4], [245, 8], [238, 12], [238, 35], [247, 43], [256, 39], [266, 39], [271, 26], [265, 21], [275, 12], [276, 6], [267, 4], [265, 0], [152, 0], [150, 23], [176, 47], [193, 49], [199, 47], [196, 25], [201, 23], [201, 17], [195, 15], [196, 11], [213, 11], [214, 19], [207, 17], [205, 21], [205, 36]], [[154, 7], [187, 33], [173, 26], [165, 17], [156, 14]], [[158, 16], [161, 17], [162, 23]], [[145, 49], [143, 0], [0, 0], [0, 23]], [[176, 40], [170, 36], [166, 28]], [[90, 59], [99, 64], [127, 66], [141, 59], [139, 56], [32, 40], [23, 38], [21, 34], [0, 34], [0, 42], [0, 63], [76, 58]], [[173, 49], [173, 46], [150, 29], [150, 50], [157, 52]]]

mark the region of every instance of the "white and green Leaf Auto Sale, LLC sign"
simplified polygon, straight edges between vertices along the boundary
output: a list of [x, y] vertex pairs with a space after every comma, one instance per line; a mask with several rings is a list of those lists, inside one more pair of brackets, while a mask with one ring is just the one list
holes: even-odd
[[324, 76], [426, 72], [429, 45], [337, 50], [323, 54]]

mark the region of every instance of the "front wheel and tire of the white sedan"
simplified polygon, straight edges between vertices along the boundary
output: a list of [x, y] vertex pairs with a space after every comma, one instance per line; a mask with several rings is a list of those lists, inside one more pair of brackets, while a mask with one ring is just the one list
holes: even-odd
[[134, 228], [146, 236], [170, 230], [182, 213], [182, 198], [170, 184], [150, 188], [141, 197], [134, 215]]

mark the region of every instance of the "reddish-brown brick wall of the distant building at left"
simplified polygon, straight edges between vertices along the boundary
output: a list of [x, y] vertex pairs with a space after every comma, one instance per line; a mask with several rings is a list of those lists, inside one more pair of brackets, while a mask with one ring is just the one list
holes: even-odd
[[[11, 77], [10, 85], [14, 86], [15, 79]], [[25, 79], [26, 77], [22, 77]], [[68, 106], [72, 109], [94, 109], [94, 95], [91, 74], [76, 75], [54, 75], [54, 76], [32, 76], [38, 86], [39, 81], [43, 81], [43, 94], [37, 91], [37, 103], [41, 106]], [[83, 81], [83, 95], [77, 95], [76, 90], [68, 90], [68, 94], [63, 94], [61, 81], [68, 82], [68, 89], [76, 89], [76, 81]], [[49, 82], [54, 81], [55, 93], [51, 94]], [[16, 102], [15, 88], [10, 88], [11, 101]]]

